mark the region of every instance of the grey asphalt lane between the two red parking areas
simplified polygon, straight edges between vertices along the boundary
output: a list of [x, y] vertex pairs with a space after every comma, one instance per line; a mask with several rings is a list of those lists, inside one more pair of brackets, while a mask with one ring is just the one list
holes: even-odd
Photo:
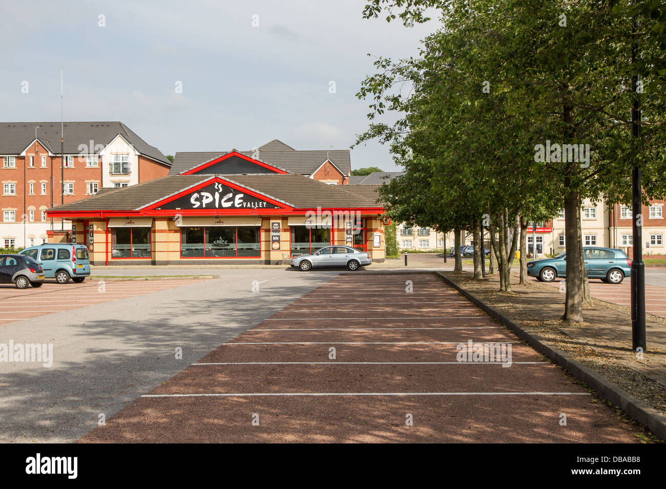
[[101, 414], [109, 418], [339, 272], [218, 270], [219, 279], [3, 325], [0, 343], [53, 343], [54, 361], [0, 362], [0, 442], [77, 440]]

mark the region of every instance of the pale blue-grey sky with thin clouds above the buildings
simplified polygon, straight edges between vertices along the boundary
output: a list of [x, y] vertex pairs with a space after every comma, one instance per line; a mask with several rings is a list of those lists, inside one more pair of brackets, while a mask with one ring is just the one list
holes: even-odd
[[[0, 5], [0, 122], [59, 121], [62, 69], [65, 120], [121, 120], [164, 154], [349, 148], [376, 57], [415, 56], [438, 28], [363, 19], [362, 0]], [[375, 141], [352, 150], [352, 170], [366, 166], [399, 169]]]

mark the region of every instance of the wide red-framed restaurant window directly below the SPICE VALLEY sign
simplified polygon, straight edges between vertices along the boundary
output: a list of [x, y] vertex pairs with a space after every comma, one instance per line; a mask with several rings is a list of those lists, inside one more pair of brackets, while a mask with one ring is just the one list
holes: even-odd
[[180, 256], [184, 258], [259, 257], [258, 226], [180, 228]]

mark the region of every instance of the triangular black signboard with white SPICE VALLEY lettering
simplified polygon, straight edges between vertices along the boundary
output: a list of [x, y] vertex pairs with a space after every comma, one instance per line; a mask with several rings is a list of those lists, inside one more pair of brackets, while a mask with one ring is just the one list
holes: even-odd
[[162, 209], [279, 209], [275, 204], [215, 182], [172, 200]]

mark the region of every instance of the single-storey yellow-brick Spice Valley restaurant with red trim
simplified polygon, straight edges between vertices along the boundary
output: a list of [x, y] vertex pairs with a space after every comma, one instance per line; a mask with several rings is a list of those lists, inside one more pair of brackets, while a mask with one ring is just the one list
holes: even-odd
[[374, 192], [236, 150], [182, 165], [47, 213], [71, 220], [73, 241], [89, 247], [93, 265], [274, 264], [335, 244], [384, 261], [384, 208]]

